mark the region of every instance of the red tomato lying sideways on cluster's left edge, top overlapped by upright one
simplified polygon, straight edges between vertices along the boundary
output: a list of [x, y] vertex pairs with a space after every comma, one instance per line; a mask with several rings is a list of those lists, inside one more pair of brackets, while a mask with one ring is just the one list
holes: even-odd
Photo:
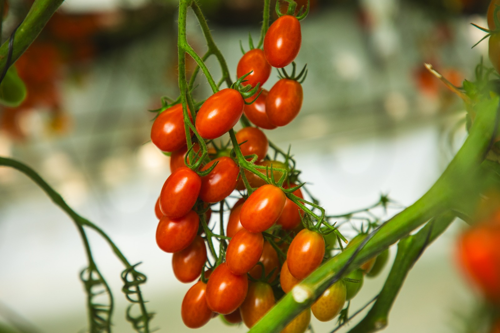
[[193, 210], [179, 218], [163, 216], [156, 228], [156, 243], [165, 252], [181, 251], [196, 237], [198, 225], [199, 217]]

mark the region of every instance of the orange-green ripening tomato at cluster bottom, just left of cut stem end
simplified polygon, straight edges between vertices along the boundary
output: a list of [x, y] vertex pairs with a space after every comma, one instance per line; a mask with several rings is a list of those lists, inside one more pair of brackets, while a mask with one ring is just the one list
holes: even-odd
[[268, 283], [253, 282], [248, 286], [246, 298], [239, 307], [246, 327], [252, 327], [274, 305], [274, 293]]

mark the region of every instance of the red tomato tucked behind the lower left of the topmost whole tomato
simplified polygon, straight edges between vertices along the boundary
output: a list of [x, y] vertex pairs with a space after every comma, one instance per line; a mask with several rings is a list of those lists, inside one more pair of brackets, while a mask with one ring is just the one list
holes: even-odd
[[258, 82], [262, 86], [271, 74], [271, 65], [267, 63], [264, 52], [260, 48], [249, 50], [239, 59], [236, 76], [241, 77], [250, 71], [252, 72], [245, 77], [248, 81], [243, 84], [251, 84], [252, 87]]

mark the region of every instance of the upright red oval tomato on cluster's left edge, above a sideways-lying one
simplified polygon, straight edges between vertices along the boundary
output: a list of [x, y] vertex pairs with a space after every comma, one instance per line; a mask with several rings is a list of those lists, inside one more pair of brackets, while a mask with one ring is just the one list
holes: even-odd
[[168, 217], [185, 215], [196, 202], [201, 188], [201, 178], [188, 168], [181, 166], [166, 178], [159, 194], [159, 207]]

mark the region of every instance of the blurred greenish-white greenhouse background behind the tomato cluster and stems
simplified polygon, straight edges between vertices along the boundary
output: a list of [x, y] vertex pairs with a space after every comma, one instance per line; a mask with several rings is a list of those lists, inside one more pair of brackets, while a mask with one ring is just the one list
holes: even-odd
[[[258, 38], [263, 1], [199, 2], [234, 79], [239, 40], [248, 49], [248, 31]], [[328, 213], [368, 206], [380, 193], [409, 205], [435, 181], [465, 137], [464, 110], [423, 63], [458, 86], [474, 78], [481, 57], [489, 65], [486, 41], [471, 48], [484, 33], [469, 24], [486, 26], [488, 2], [311, 0], [295, 59], [309, 70], [302, 109], [289, 125], [265, 133], [281, 148], [291, 144], [302, 179]], [[3, 40], [29, 6], [9, 1]], [[175, 279], [171, 255], [154, 240], [153, 207], [169, 157], [149, 141], [148, 109], [159, 107], [163, 95], [177, 96], [176, 7], [174, 0], [65, 1], [15, 64], [28, 95], [19, 107], [0, 109], [0, 155], [37, 170], [132, 263], [142, 262], [138, 270], [148, 277], [142, 290], [156, 312], [152, 326], [187, 332], [180, 304], [189, 285]], [[204, 51], [193, 15], [188, 39]], [[216, 61], [207, 64], [217, 77]], [[200, 78], [202, 99], [210, 89]], [[474, 305], [454, 265], [454, 237], [463, 224], [455, 222], [414, 266], [384, 331], [463, 331]], [[101, 238], [92, 232], [89, 238], [115, 297], [115, 331], [130, 332], [122, 266]], [[85, 265], [68, 216], [23, 174], [0, 167], [0, 321], [22, 322], [33, 332], [84, 331], [78, 274]], [[387, 272], [365, 281], [352, 310], [377, 293]], [[312, 323], [315, 332], [335, 326]], [[199, 331], [246, 327], [215, 318]]]

